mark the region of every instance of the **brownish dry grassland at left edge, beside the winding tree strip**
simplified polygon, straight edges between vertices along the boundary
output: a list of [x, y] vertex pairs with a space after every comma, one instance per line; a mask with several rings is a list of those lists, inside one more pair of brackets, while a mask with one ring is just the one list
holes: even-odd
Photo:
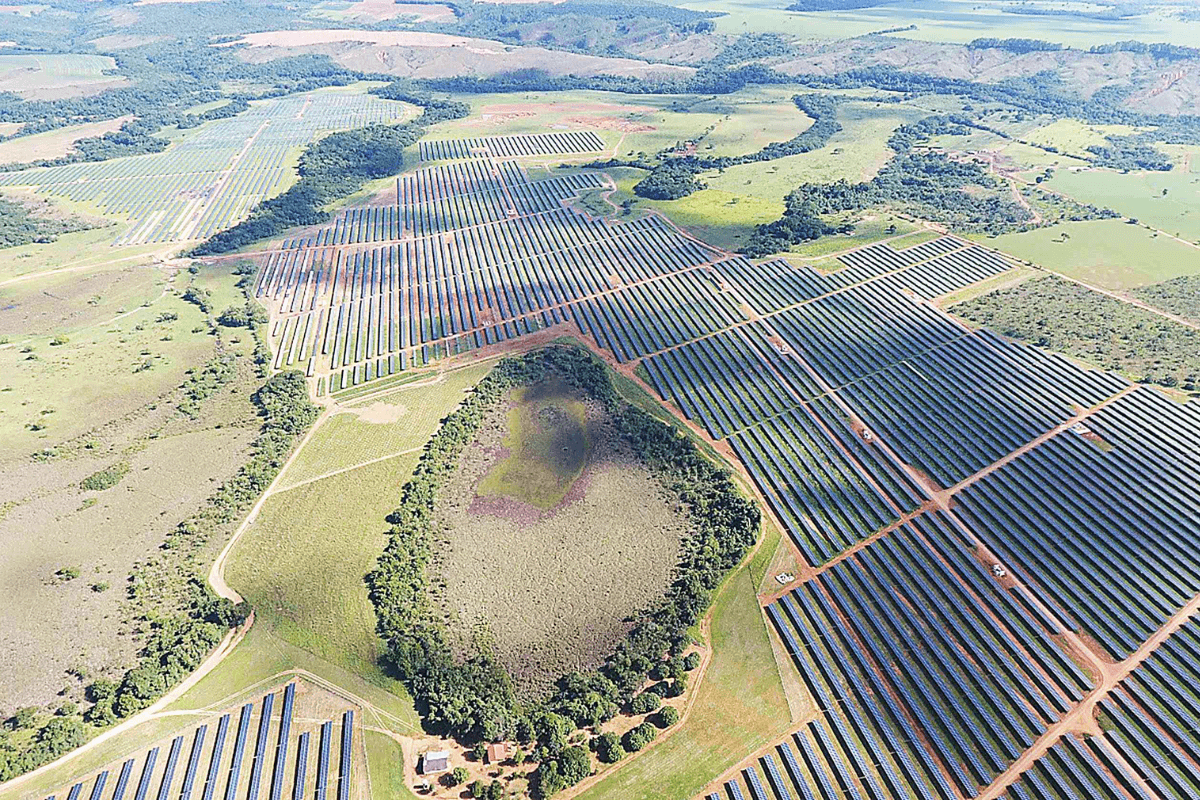
[[[79, 702], [91, 678], [124, 670], [137, 646], [121, 621], [126, 576], [245, 461], [253, 429], [204, 420], [149, 440], [167, 416], [151, 411], [108, 441], [97, 437], [96, 455], [0, 464], [0, 714]], [[128, 473], [116, 486], [79, 487], [122, 462]], [[79, 577], [56, 578], [65, 567]]]

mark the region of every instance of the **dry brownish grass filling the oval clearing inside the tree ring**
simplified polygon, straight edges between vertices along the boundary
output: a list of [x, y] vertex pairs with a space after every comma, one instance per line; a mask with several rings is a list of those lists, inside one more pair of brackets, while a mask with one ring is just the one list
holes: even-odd
[[[533, 396], [524, 399], [538, 409], [541, 429], [510, 427], [521, 397], [494, 409], [438, 501], [446, 531], [440, 600], [451, 630], [466, 644], [485, 628], [518, 693], [527, 697], [545, 692], [568, 672], [598, 666], [612, 651], [628, 633], [625, 618], [661, 595], [686, 535], [672, 498], [599, 405], [564, 387]], [[582, 420], [572, 415], [572, 404], [582, 407]], [[559, 414], [541, 413], [556, 405]], [[546, 455], [536, 444], [515, 443], [514, 434], [559, 447], [581, 440], [572, 433], [581, 423], [590, 452], [559, 503], [539, 507], [523, 491], [516, 497], [478, 494], [510, 450], [534, 461]], [[556, 426], [563, 427], [558, 434], [551, 429]], [[569, 474], [576, 461], [559, 465]]]

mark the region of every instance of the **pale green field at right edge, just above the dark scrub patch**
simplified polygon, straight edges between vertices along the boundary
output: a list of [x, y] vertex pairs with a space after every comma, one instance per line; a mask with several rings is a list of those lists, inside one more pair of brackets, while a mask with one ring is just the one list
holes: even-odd
[[[1063, 233], [1067, 241], [1062, 241]], [[1120, 219], [1073, 222], [983, 241], [1106, 289], [1132, 289], [1200, 272], [1200, 249]]]

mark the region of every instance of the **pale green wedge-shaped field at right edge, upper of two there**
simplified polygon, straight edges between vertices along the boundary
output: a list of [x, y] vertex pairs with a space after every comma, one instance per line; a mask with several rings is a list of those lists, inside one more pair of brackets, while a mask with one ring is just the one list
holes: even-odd
[[1200, 175], [1194, 173], [1058, 172], [1049, 186], [1081, 203], [1106, 206], [1181, 239], [1200, 241]]

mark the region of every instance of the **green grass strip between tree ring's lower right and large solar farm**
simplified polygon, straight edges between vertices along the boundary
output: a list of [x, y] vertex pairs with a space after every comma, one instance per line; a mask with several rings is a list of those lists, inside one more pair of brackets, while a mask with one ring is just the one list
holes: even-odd
[[676, 733], [580, 795], [582, 800], [690, 798], [792, 723], [750, 566], [713, 609], [713, 660]]

